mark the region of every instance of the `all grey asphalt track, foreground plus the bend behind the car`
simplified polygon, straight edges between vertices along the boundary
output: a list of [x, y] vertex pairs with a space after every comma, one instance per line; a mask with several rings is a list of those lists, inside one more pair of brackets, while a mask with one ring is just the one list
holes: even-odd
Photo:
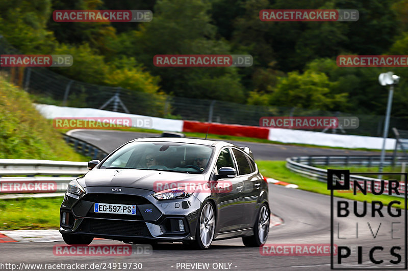
[[[140, 134], [117, 133], [110, 131], [78, 131], [72, 136], [87, 140], [95, 145], [104, 146], [108, 151]], [[144, 134], [144, 136], [146, 136]], [[312, 155], [312, 154], [362, 154], [366, 152], [352, 152], [336, 149], [304, 148], [297, 146], [279, 146], [271, 144], [247, 143], [245, 145], [253, 149], [256, 159], [283, 160], [289, 156]], [[262, 151], [261, 151], [262, 150]], [[267, 244], [330, 244], [330, 197], [314, 194], [301, 190], [294, 190], [281, 186], [269, 185], [269, 199], [272, 212], [284, 220], [284, 224], [272, 227], [269, 232]], [[335, 199], [336, 202], [337, 199]], [[352, 204], [351, 204], [352, 205]], [[358, 208], [361, 211], [361, 205]], [[371, 210], [371, 207], [368, 207]], [[348, 218], [346, 223], [341, 224], [340, 237], [347, 236], [344, 244], [363, 245], [366, 247], [383, 246], [390, 247], [396, 244], [402, 245], [399, 254], [404, 263], [403, 239], [391, 239], [390, 223], [403, 222], [403, 216], [395, 219], [385, 213], [384, 218], [378, 216], [370, 218], [371, 232], [367, 228], [367, 220]], [[359, 223], [359, 236], [355, 239], [356, 222]], [[379, 223], [382, 226], [377, 231]], [[403, 225], [403, 224], [401, 224]], [[397, 227], [395, 227], [397, 228]], [[399, 233], [403, 236], [403, 226], [399, 227]], [[394, 229], [395, 230], [395, 229]], [[376, 238], [373, 235], [376, 233]], [[337, 230], [336, 230], [337, 234]], [[354, 237], [353, 237], [354, 236]], [[398, 236], [394, 233], [394, 236]], [[129, 263], [140, 262], [142, 270], [191, 270], [181, 268], [181, 263], [209, 263], [208, 270], [329, 270], [330, 256], [271, 256], [261, 255], [259, 248], [246, 248], [240, 238], [213, 242], [207, 251], [189, 250], [181, 244], [162, 244], [155, 247], [151, 255], [131, 255], [123, 257], [62, 257], [53, 254], [54, 243], [2, 243], [0, 244], [0, 258], [2, 263], [13, 263], [19, 266], [21, 262], [38, 264], [58, 263]], [[94, 244], [122, 244], [109, 240], [94, 240]], [[335, 244], [337, 244], [335, 242]], [[382, 256], [382, 257], [381, 257]], [[388, 262], [395, 257], [390, 256], [389, 250], [375, 252], [377, 259]], [[355, 259], [355, 258], [354, 258]], [[335, 257], [337, 260], [337, 257]], [[347, 266], [340, 268], [375, 267], [369, 263], [368, 251], [363, 252], [363, 265], [356, 261], [347, 261]], [[213, 268], [213, 264], [227, 263], [224, 269]], [[231, 264], [231, 267], [229, 267]], [[178, 264], [178, 265], [177, 265]], [[178, 266], [178, 267], [177, 267]], [[185, 265], [187, 266], [187, 265]], [[395, 267], [393, 265], [387, 266]], [[399, 266], [400, 267], [400, 266]], [[384, 268], [384, 266], [382, 266]], [[3, 270], [3, 269], [2, 269]], [[27, 269], [34, 270], [34, 269]], [[112, 270], [106, 268], [105, 270]], [[118, 270], [118, 268], [116, 268]], [[132, 269], [134, 270], [134, 269]], [[198, 270], [198, 269], [196, 269]]]

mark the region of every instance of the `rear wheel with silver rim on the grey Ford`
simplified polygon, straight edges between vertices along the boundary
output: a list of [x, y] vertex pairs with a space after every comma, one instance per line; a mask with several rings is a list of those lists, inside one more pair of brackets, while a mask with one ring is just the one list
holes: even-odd
[[270, 212], [268, 205], [263, 203], [259, 209], [259, 215], [253, 226], [253, 235], [242, 237], [245, 247], [260, 247], [266, 243], [269, 233]]

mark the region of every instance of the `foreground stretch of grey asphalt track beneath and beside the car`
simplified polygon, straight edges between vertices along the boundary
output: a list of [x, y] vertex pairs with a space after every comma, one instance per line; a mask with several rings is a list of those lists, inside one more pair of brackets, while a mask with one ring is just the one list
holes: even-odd
[[[270, 185], [270, 202], [272, 211], [282, 217], [285, 223], [272, 227], [267, 244], [329, 244], [330, 243], [330, 198], [328, 196]], [[294, 200], [295, 199], [295, 200]], [[401, 219], [402, 220], [402, 219]], [[355, 232], [355, 223], [352, 219], [342, 228], [344, 235]], [[384, 220], [370, 219], [375, 233], [380, 222]], [[399, 240], [378, 242], [371, 233], [361, 226], [358, 244], [370, 246], [387, 246], [401, 243]], [[378, 235], [386, 235], [387, 231], [379, 230]], [[378, 236], [377, 236], [378, 238]], [[188, 250], [181, 244], [162, 244], [146, 256], [127, 257], [62, 257], [54, 256], [54, 243], [2, 243], [0, 244], [1, 262], [13, 263], [17, 266], [22, 263], [58, 264], [58, 263], [127, 263], [141, 262], [143, 270], [181, 270], [176, 268], [177, 263], [231, 263], [232, 270], [329, 270], [329, 256], [271, 256], [261, 255], [259, 248], [246, 248], [241, 239], [230, 239], [213, 242], [207, 251]], [[109, 240], [94, 240], [94, 244], [122, 244]], [[335, 243], [336, 244], [336, 243]], [[380, 255], [380, 253], [376, 253]], [[403, 255], [403, 254], [401, 254]], [[380, 256], [378, 256], [380, 257]], [[368, 261], [367, 253], [363, 261]], [[228, 266], [228, 264], [226, 265]], [[235, 267], [236, 266], [236, 267]], [[349, 268], [359, 267], [348, 265]], [[360, 266], [361, 267], [361, 266]], [[343, 267], [344, 268], [344, 267]], [[2, 269], [3, 270], [3, 269]], [[109, 270], [109, 269], [108, 269]], [[212, 267], [209, 270], [214, 270]], [[217, 269], [215, 269], [217, 270]]]

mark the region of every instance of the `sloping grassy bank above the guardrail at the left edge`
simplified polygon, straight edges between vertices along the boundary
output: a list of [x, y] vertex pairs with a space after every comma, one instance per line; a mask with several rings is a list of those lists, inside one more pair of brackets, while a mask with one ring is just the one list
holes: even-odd
[[85, 161], [35, 109], [29, 95], [1, 75], [0, 158]]

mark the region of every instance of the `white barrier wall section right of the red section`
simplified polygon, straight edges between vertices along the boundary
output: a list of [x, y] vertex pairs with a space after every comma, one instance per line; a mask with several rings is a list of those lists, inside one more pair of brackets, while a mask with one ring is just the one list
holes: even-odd
[[[382, 138], [372, 136], [338, 135], [291, 129], [269, 129], [269, 140], [283, 143], [312, 144], [344, 148], [382, 148]], [[396, 140], [387, 138], [386, 149], [394, 149]]]

